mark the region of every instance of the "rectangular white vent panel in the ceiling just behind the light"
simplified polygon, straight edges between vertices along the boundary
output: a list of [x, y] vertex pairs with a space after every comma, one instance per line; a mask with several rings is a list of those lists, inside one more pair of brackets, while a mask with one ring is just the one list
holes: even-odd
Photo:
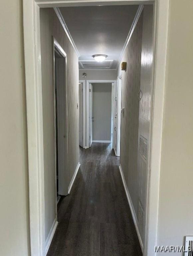
[[104, 60], [102, 62], [91, 60], [80, 60], [79, 65], [83, 69], [110, 69], [113, 60]]

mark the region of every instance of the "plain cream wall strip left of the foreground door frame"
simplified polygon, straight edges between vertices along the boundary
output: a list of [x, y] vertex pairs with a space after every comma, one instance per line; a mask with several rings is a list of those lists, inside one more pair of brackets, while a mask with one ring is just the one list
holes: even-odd
[[1, 1], [0, 255], [3, 256], [30, 255], [22, 10], [21, 0]]

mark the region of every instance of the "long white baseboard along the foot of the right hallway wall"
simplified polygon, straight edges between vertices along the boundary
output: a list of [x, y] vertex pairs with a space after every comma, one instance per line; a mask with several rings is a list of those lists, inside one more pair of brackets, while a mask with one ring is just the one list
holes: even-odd
[[139, 239], [141, 250], [143, 251], [143, 242], [141, 240], [141, 236], [140, 236], [139, 229], [138, 229], [137, 216], [135, 214], [135, 210], [134, 210], [133, 203], [131, 201], [131, 197], [130, 197], [130, 194], [129, 194], [129, 191], [128, 191], [128, 188], [127, 188], [127, 185], [126, 185], [126, 182], [125, 182], [125, 178], [124, 178], [124, 175], [123, 175], [121, 165], [119, 165], [119, 171], [120, 171], [120, 175], [121, 175], [121, 178], [122, 178], [125, 193], [126, 193], [126, 196], [127, 196], [127, 200], [128, 200], [128, 203], [129, 203], [129, 207], [130, 207], [130, 210], [131, 210], [131, 214], [132, 214], [132, 217], [133, 217], [133, 222], [135, 224], [135, 228], [136, 228], [136, 231], [137, 231], [137, 236], [138, 236], [138, 239]]

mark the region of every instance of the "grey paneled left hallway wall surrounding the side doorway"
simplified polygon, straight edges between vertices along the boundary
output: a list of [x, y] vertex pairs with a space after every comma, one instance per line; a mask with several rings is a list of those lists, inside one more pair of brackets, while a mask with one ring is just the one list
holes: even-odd
[[79, 162], [79, 110], [77, 109], [77, 103], [79, 102], [79, 71], [78, 57], [53, 9], [40, 9], [40, 24], [46, 239], [56, 217], [52, 35], [67, 54], [68, 185]]

